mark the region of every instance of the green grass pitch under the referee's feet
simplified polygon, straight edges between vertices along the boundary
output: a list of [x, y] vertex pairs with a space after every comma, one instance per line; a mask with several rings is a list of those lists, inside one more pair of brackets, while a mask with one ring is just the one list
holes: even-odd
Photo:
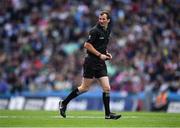
[[0, 128], [180, 128], [180, 114], [155, 112], [118, 112], [119, 120], [105, 120], [103, 111], [0, 110]]

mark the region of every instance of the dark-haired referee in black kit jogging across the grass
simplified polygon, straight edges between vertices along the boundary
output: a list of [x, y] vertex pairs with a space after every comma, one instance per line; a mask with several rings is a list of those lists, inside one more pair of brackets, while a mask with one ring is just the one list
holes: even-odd
[[111, 32], [110, 14], [102, 11], [99, 15], [98, 23], [90, 30], [84, 48], [88, 56], [83, 65], [83, 80], [81, 85], [73, 90], [63, 101], [59, 102], [60, 115], [66, 118], [66, 107], [75, 97], [89, 90], [93, 78], [98, 79], [103, 89], [103, 103], [105, 108], [105, 119], [119, 119], [121, 115], [116, 115], [110, 111], [110, 84], [107, 75], [106, 60], [111, 60], [112, 55], [107, 52], [107, 45]]

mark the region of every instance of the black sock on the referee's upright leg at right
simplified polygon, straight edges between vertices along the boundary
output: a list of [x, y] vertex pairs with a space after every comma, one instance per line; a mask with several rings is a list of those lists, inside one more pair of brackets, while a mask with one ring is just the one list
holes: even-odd
[[103, 92], [103, 103], [104, 103], [104, 108], [105, 108], [105, 114], [106, 115], [110, 114], [109, 102], [110, 102], [110, 94], [107, 93], [107, 92]]

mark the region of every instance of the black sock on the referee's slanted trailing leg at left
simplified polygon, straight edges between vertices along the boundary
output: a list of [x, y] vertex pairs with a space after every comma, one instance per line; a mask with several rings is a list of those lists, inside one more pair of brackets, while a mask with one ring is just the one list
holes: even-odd
[[78, 88], [76, 88], [74, 91], [72, 91], [65, 100], [63, 100], [62, 104], [63, 105], [67, 105], [73, 98], [79, 96], [80, 94], [82, 94], [81, 92], [79, 92]]

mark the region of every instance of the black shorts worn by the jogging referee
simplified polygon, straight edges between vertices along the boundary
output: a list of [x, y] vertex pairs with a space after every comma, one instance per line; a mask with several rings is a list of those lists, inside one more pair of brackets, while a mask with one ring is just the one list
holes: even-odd
[[83, 65], [84, 78], [100, 78], [107, 76], [107, 67], [105, 61], [85, 58]]

